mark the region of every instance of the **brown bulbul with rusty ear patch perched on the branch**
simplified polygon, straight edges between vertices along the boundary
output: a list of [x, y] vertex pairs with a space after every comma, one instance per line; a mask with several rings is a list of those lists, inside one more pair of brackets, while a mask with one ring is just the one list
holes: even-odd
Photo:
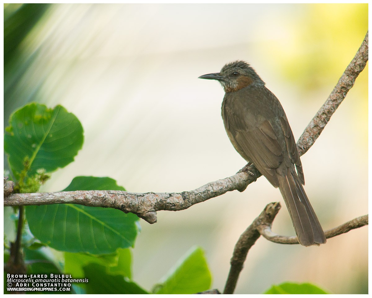
[[199, 78], [221, 83], [225, 91], [221, 114], [227, 135], [235, 150], [275, 188], [279, 187], [299, 243], [325, 243], [323, 229], [303, 187], [301, 160], [279, 99], [245, 61], [227, 63], [219, 73]]

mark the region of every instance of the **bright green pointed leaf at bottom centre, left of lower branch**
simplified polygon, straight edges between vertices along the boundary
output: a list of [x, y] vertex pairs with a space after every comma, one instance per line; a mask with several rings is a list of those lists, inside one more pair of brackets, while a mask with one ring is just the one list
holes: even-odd
[[155, 294], [195, 294], [208, 290], [212, 277], [202, 248], [192, 248], [163, 280], [156, 285]]

